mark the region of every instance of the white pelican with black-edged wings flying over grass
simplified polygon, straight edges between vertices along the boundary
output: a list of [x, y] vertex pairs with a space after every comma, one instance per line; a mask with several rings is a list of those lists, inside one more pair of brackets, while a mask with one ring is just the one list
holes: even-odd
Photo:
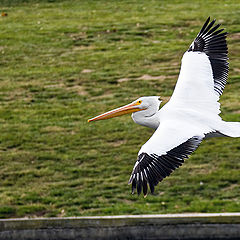
[[208, 17], [183, 54], [175, 89], [163, 107], [159, 96], [140, 97], [88, 120], [132, 113], [135, 123], [155, 129], [133, 167], [132, 194], [143, 192], [146, 197], [149, 190], [153, 194], [155, 186], [179, 168], [204, 139], [240, 137], [240, 122], [226, 122], [219, 116], [219, 99], [229, 71], [228, 33], [215, 22]]

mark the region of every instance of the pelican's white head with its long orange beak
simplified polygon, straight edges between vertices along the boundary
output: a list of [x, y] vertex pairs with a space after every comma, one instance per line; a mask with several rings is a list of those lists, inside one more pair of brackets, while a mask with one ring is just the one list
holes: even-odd
[[[161, 100], [158, 96], [140, 97], [130, 104], [116, 108], [88, 120], [88, 122], [105, 120], [132, 113], [134, 122], [141, 124], [143, 118], [151, 117], [158, 112]], [[141, 124], [145, 125], [145, 124]]]

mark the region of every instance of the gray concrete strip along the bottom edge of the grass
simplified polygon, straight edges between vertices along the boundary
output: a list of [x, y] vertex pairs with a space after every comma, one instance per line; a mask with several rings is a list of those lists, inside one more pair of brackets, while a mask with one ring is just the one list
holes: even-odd
[[240, 239], [240, 213], [0, 219], [0, 239]]

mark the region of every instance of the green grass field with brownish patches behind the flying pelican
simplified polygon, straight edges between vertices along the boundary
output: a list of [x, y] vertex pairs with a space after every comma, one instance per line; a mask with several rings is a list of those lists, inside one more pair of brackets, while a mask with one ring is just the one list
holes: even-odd
[[238, 1], [0, 1], [0, 218], [240, 211], [240, 139], [204, 141], [146, 199], [127, 185], [153, 131], [87, 119], [171, 96], [210, 15], [229, 32], [224, 120], [240, 121]]

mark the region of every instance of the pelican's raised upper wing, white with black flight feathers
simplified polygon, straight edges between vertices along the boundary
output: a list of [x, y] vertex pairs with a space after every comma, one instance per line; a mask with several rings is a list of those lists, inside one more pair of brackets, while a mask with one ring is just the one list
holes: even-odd
[[228, 77], [227, 33], [207, 19], [183, 55], [179, 78], [171, 102], [184, 108], [220, 113], [219, 96]]

